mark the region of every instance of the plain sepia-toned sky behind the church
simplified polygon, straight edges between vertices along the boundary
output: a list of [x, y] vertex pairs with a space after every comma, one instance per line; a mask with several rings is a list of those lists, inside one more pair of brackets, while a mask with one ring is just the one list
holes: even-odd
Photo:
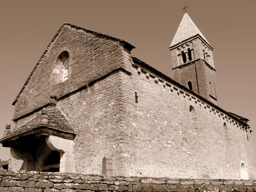
[[[63, 23], [124, 39], [173, 78], [170, 50], [187, 13], [214, 48], [221, 108], [248, 118], [256, 152], [255, 0], [0, 0], [0, 137], [26, 79]], [[232, 139], [232, 138], [231, 138]], [[10, 148], [0, 146], [0, 159]]]

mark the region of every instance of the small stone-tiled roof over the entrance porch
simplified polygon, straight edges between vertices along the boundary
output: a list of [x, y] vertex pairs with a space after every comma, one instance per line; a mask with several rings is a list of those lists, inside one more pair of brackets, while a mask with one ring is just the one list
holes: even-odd
[[54, 108], [48, 109], [47, 116], [48, 116], [47, 125], [41, 123], [40, 118], [42, 116], [38, 115], [35, 118], [33, 118], [31, 121], [26, 123], [25, 125], [22, 125], [20, 128], [15, 129], [11, 133], [9, 133], [7, 136], [0, 139], [0, 142], [40, 127], [46, 127], [46, 128], [55, 129], [61, 132], [76, 134], [74, 128], [72, 127], [72, 125], [69, 123], [69, 121], [67, 120], [67, 118], [64, 116], [63, 112], [61, 112], [59, 108], [54, 107]]

